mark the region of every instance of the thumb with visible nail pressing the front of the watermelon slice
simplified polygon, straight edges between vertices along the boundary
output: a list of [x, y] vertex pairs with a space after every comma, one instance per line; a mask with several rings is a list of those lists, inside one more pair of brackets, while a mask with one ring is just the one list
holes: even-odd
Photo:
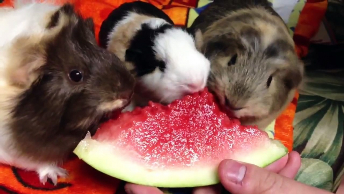
[[229, 159], [220, 163], [219, 176], [232, 194], [330, 194], [264, 168]]

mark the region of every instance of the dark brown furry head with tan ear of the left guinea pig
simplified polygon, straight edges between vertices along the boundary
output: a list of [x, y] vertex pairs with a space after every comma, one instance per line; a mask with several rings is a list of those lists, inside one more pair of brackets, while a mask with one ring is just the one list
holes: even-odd
[[[120, 108], [118, 100], [123, 106], [130, 100], [134, 87], [118, 57], [97, 46], [91, 19], [69, 4], [58, 12], [47, 34], [17, 40], [7, 70], [14, 146], [34, 161], [66, 158], [105, 114]], [[82, 72], [82, 81], [69, 79], [73, 69]]]

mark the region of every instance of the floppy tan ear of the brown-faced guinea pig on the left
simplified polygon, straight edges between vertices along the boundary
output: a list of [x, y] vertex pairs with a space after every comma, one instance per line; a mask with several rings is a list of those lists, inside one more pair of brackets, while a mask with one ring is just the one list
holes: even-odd
[[39, 41], [34, 37], [21, 38], [13, 45], [7, 68], [12, 84], [28, 88], [39, 78], [39, 69], [46, 64], [45, 46]]

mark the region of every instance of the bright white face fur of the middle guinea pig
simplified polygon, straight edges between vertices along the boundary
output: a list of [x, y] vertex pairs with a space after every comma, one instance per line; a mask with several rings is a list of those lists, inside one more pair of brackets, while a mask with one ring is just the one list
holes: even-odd
[[165, 72], [156, 69], [142, 76], [140, 81], [154, 92], [161, 103], [171, 103], [188, 93], [204, 89], [210, 61], [196, 49], [190, 34], [178, 28], [169, 29], [159, 34], [154, 43], [155, 55], [166, 64]]

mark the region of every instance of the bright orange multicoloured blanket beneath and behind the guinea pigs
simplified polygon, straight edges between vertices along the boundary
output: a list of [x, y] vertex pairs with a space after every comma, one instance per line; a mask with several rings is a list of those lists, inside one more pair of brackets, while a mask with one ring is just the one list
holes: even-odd
[[[141, 0], [163, 10], [178, 26], [190, 26], [210, 3], [209, 0]], [[63, 2], [63, 1], [62, 1]], [[70, 0], [83, 17], [92, 17], [96, 36], [102, 21], [116, 7], [130, 0]], [[289, 2], [289, 3], [286, 3]], [[307, 54], [310, 38], [317, 32], [327, 7], [325, 0], [273, 0], [273, 8], [286, 22], [290, 35], [294, 37], [295, 49], [300, 57]], [[12, 6], [11, 0], [0, 0], [0, 6]], [[267, 128], [271, 138], [280, 140], [289, 151], [293, 147], [292, 122], [295, 115], [298, 93], [287, 109]], [[113, 194], [120, 181], [104, 175], [75, 156], [64, 164], [69, 171], [67, 178], [60, 178], [57, 185], [51, 182], [42, 185], [35, 172], [11, 166], [0, 166], [0, 194]], [[166, 193], [188, 193], [189, 189], [167, 189]]]

